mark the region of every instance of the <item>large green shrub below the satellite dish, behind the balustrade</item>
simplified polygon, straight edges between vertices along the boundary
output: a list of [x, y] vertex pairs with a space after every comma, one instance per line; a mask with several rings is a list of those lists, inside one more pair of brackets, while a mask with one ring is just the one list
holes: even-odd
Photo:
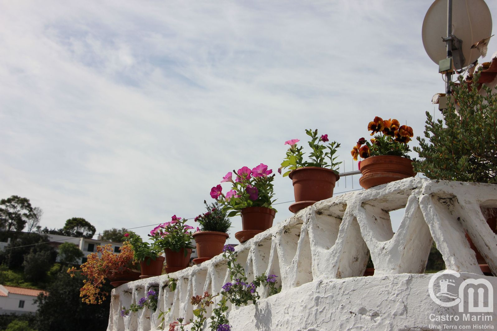
[[461, 84], [451, 84], [454, 102], [443, 110], [443, 121], [426, 112], [429, 142], [417, 137], [414, 150], [423, 159], [414, 162], [415, 171], [430, 179], [497, 184], [497, 93], [486, 85], [486, 94], [478, 93], [479, 77], [476, 72], [471, 88], [462, 76]]

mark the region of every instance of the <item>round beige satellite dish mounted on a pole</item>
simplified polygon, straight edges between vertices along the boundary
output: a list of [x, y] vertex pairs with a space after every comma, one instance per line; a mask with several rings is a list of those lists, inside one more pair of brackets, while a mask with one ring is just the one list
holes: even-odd
[[[430, 59], [439, 64], [447, 58], [447, 1], [435, 0], [423, 20], [423, 46]], [[463, 67], [475, 62], [480, 53], [471, 49], [476, 42], [492, 35], [492, 16], [484, 0], [452, 0], [452, 34], [462, 40]]]

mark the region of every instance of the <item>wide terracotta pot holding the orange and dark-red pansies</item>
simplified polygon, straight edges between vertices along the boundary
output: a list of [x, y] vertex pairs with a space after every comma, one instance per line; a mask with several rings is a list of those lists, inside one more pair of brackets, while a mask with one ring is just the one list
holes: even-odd
[[413, 160], [402, 156], [371, 156], [361, 161], [359, 185], [365, 189], [414, 177]]

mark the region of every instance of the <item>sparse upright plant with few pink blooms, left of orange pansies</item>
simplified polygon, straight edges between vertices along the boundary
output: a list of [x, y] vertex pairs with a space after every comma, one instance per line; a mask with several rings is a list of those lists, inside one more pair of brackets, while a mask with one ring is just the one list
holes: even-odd
[[[285, 145], [290, 145], [286, 151], [286, 157], [281, 162], [281, 167], [278, 172], [281, 174], [282, 169], [288, 168], [283, 174], [286, 177], [292, 172], [292, 170], [302, 168], [302, 167], [320, 167], [320, 168], [330, 168], [334, 173], [338, 174], [338, 165], [341, 162], [335, 162], [337, 156], [335, 156], [336, 149], [340, 147], [340, 144], [336, 141], [332, 141], [328, 144], [321, 144], [330, 141], [328, 139], [328, 134], [322, 134], [318, 136], [318, 130], [307, 129], [306, 134], [311, 137], [308, 141], [309, 147], [311, 147], [312, 152], [309, 154], [310, 161], [304, 161], [304, 146], [297, 147], [297, 142], [299, 139], [292, 139], [285, 141]], [[330, 163], [328, 163], [330, 162]]]

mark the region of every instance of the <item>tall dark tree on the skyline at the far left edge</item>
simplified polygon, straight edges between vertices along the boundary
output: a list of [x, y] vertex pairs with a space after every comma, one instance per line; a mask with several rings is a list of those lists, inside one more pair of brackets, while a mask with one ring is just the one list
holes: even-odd
[[11, 196], [0, 200], [0, 228], [22, 231], [29, 219], [34, 217], [33, 207], [27, 198]]

